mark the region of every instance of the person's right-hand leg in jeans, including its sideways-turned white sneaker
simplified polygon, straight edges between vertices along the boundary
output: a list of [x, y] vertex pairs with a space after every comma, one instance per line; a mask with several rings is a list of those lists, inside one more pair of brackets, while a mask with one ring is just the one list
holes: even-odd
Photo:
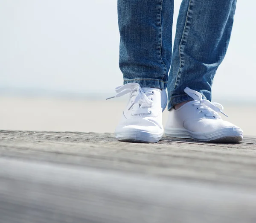
[[[221, 119], [211, 87], [230, 41], [236, 0], [183, 0], [169, 76], [166, 136], [239, 142], [241, 128]], [[190, 89], [191, 88], [191, 89]], [[186, 104], [180, 104], [189, 101]], [[174, 109], [173, 106], [181, 105]]]

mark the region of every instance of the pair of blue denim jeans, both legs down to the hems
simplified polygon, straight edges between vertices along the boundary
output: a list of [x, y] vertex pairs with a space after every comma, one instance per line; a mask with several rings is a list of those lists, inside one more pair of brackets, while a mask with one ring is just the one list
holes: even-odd
[[183, 91], [186, 87], [211, 100], [212, 81], [230, 41], [236, 0], [183, 0], [172, 51], [173, 8], [174, 0], [118, 0], [124, 84], [167, 87], [169, 110], [192, 100]]

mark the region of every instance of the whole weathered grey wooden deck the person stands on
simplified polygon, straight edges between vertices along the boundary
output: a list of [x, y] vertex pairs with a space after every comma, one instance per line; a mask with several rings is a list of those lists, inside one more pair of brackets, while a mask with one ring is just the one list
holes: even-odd
[[255, 223], [256, 138], [0, 131], [0, 223]]

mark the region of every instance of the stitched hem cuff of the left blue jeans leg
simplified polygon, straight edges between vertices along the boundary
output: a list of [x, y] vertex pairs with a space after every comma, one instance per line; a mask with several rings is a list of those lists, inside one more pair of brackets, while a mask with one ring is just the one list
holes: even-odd
[[158, 80], [158, 79], [145, 79], [145, 78], [136, 78], [136, 79], [124, 79], [124, 84], [128, 83], [138, 83], [141, 87], [152, 87], [159, 89], [166, 89], [167, 81]]

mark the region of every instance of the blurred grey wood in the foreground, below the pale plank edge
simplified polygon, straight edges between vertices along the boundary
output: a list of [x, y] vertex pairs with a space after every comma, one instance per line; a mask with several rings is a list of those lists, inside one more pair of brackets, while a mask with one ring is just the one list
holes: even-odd
[[0, 220], [6, 222], [256, 220], [250, 190], [3, 158], [0, 167]]

